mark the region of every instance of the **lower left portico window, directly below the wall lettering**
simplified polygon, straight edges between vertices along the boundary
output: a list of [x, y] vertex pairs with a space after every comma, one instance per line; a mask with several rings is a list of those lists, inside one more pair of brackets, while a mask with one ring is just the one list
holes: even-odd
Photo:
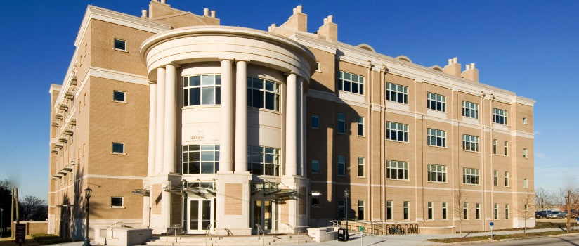
[[219, 145], [183, 145], [183, 174], [219, 171]]

